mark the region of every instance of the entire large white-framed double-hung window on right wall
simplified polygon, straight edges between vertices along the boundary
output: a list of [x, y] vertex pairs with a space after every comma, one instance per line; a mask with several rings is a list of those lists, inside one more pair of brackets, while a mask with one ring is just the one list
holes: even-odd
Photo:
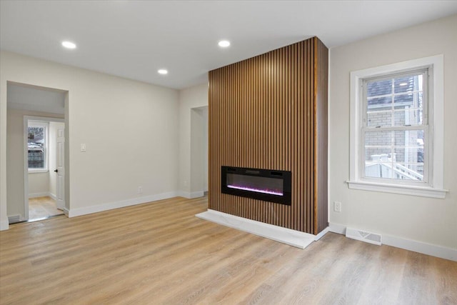
[[443, 56], [351, 72], [351, 189], [444, 198]]

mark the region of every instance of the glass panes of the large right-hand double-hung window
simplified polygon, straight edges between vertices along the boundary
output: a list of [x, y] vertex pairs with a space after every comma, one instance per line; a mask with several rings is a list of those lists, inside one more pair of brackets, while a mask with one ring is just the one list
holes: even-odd
[[[365, 81], [364, 175], [424, 181], [425, 70]], [[388, 78], [388, 79], [386, 79]], [[413, 128], [412, 126], [416, 126]]]

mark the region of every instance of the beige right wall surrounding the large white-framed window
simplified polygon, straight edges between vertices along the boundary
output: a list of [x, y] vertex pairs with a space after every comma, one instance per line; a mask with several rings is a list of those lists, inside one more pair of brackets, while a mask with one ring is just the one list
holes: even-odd
[[[329, 204], [331, 224], [457, 249], [457, 16], [401, 29], [330, 51]], [[446, 199], [348, 189], [351, 71], [444, 54]], [[333, 211], [333, 201], [342, 211]]]

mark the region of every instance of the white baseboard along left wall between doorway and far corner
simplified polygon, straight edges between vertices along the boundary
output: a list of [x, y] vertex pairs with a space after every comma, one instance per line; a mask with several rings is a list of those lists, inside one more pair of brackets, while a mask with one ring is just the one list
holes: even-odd
[[[139, 197], [139, 198], [134, 198], [134, 199], [109, 202], [106, 204], [97, 204], [96, 206], [86, 206], [84, 208], [79, 208], [79, 209], [70, 208], [68, 210], [68, 216], [76, 217], [76, 216], [82, 216], [82, 215], [86, 215], [86, 214], [98, 213], [101, 211], [108, 211], [111, 209], [124, 208], [126, 206], [134, 206], [136, 204], [146, 204], [146, 202], [157, 201], [157, 200], [161, 200], [161, 199], [169, 199], [169, 198], [176, 197], [178, 195], [179, 194], [176, 191], [171, 191], [169, 193], [164, 193], [164, 194], [156, 194], [156, 195], [144, 196], [144, 197]], [[64, 213], [66, 212], [65, 210], [64, 210]]]

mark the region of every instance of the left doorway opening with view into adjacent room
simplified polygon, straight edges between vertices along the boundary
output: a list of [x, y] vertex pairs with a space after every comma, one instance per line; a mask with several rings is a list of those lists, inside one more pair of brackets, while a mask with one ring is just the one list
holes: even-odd
[[[64, 130], [69, 93], [7, 81], [6, 96], [6, 211], [9, 224], [64, 214], [63, 210], [67, 209], [64, 164], [68, 162]], [[29, 121], [34, 129], [29, 130]], [[29, 132], [34, 130], [36, 134]], [[61, 169], [57, 167], [59, 160]]]

